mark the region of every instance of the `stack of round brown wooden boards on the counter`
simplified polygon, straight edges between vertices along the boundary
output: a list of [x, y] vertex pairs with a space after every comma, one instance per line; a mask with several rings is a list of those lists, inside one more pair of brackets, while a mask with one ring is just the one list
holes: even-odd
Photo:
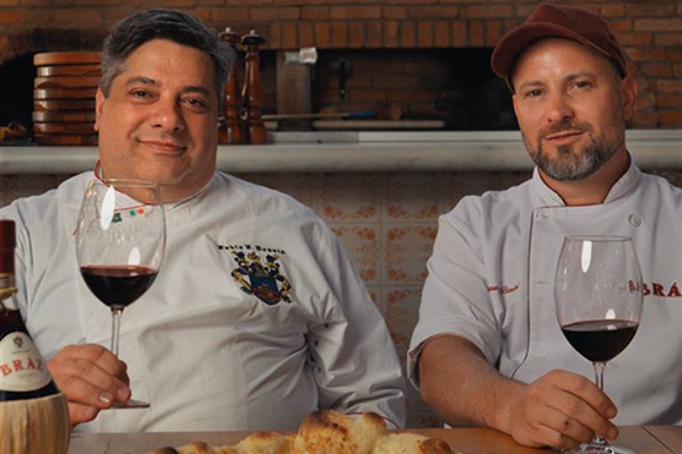
[[100, 52], [36, 53], [33, 135], [40, 145], [97, 145]]

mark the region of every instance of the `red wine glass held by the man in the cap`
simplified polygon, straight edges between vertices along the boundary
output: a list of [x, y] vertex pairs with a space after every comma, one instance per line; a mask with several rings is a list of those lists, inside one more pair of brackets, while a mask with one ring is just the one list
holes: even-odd
[[[628, 346], [642, 314], [637, 254], [626, 237], [567, 237], [559, 256], [554, 297], [561, 331], [589, 359], [604, 390], [607, 362]], [[571, 453], [618, 452], [598, 434]]]

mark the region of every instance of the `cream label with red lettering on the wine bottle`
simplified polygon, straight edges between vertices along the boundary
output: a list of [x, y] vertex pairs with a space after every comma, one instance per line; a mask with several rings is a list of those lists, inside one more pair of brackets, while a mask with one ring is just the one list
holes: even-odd
[[43, 356], [26, 333], [9, 333], [0, 340], [0, 390], [35, 391], [50, 380]]

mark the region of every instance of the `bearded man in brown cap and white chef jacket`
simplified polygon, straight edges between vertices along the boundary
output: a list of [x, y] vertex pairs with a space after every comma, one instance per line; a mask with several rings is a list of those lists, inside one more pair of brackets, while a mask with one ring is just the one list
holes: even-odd
[[[492, 65], [513, 93], [535, 171], [440, 218], [408, 372], [450, 425], [566, 449], [619, 425], [682, 424], [682, 191], [625, 145], [637, 87], [598, 14], [540, 4]], [[633, 239], [644, 315], [605, 392], [564, 339], [553, 274], [572, 234]]]

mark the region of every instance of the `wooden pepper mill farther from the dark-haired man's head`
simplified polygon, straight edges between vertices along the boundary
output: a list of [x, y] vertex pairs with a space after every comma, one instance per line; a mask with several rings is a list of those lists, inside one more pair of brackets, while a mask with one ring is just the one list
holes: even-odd
[[244, 100], [245, 122], [251, 144], [266, 143], [266, 125], [261, 117], [263, 107], [263, 90], [260, 84], [259, 46], [266, 40], [251, 30], [249, 35], [242, 36], [242, 45], [246, 47], [246, 69], [242, 99]]

